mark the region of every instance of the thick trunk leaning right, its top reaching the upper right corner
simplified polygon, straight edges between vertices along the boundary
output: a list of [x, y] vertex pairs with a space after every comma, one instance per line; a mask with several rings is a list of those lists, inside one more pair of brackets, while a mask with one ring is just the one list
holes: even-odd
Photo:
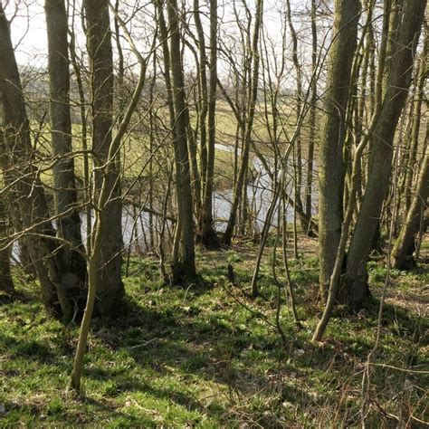
[[396, 125], [410, 86], [415, 49], [424, 19], [424, 7], [425, 4], [421, 0], [405, 2], [396, 40], [392, 41], [393, 55], [386, 91], [373, 132], [367, 188], [349, 245], [347, 273], [341, 291], [341, 296], [346, 297], [351, 308], [360, 307], [369, 292], [367, 259], [389, 186]]

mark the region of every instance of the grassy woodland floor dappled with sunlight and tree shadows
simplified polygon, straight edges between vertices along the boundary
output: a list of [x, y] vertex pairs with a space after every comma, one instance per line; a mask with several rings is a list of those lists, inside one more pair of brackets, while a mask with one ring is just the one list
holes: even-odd
[[[201, 278], [183, 287], [163, 285], [157, 261], [132, 259], [118, 317], [93, 320], [81, 397], [67, 391], [78, 329], [46, 319], [28, 285], [22, 285], [25, 300], [0, 297], [0, 427], [353, 427], [361, 424], [363, 398], [367, 427], [401, 421], [427, 427], [429, 265], [391, 272], [363, 395], [384, 263], [370, 263], [367, 309], [350, 315], [338, 308], [323, 343], [315, 345], [317, 243], [302, 239], [299, 248], [300, 259], [290, 265], [302, 328], [282, 302], [284, 345], [275, 329], [272, 247], [256, 300], [248, 293], [251, 243], [198, 251]], [[280, 249], [277, 258], [281, 262]], [[235, 286], [227, 280], [228, 263]]]

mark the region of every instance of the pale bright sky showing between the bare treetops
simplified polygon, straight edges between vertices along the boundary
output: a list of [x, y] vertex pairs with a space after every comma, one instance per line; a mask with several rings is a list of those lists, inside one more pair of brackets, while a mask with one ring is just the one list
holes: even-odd
[[[0, 0], [2, 1], [2, 0]], [[81, 0], [73, 0], [76, 3], [76, 8], [80, 10]], [[137, 0], [136, 0], [137, 1]], [[140, 5], [150, 5], [150, 2], [146, 3], [147, 0], [141, 1]], [[190, 2], [192, 4], [193, 0], [186, 0], [186, 2]], [[5, 2], [4, 0], [4, 3]], [[8, 19], [11, 19], [11, 17], [14, 15], [14, 18], [11, 22], [11, 35], [12, 35], [12, 41], [15, 46], [15, 56], [16, 61], [20, 66], [25, 65], [31, 65], [36, 70], [38, 69], [44, 69], [47, 66], [47, 35], [46, 35], [46, 27], [45, 27], [45, 17], [44, 17], [44, 9], [43, 4], [44, 0], [9, 0], [9, 4], [6, 7], [6, 15]], [[72, 1], [68, 2], [69, 4], [72, 4]], [[120, 2], [121, 5], [124, 5], [128, 2]], [[129, 5], [132, 5], [133, 1], [131, 0], [129, 2]], [[251, 8], [254, 14], [254, 6], [255, 6], [255, 0], [247, 0], [247, 4]], [[15, 7], [17, 8], [15, 9]], [[208, 6], [207, 6], [207, 0], [200, 0], [200, 5], [202, 6], [202, 10], [205, 14], [208, 14]], [[227, 37], [230, 38], [230, 41], [227, 42], [227, 45], [229, 43], [229, 46], [231, 46], [231, 43], [234, 43], [234, 40], [238, 40], [238, 30], [236, 28], [236, 23], [234, 22], [234, 15], [232, 13], [233, 3], [231, 0], [218, 0], [218, 7], [219, 7], [219, 20], [223, 20], [223, 29], [226, 33], [228, 33]], [[242, 2], [240, 0], [237, 0], [236, 5], [242, 5]], [[292, 16], [293, 12], [297, 9], [305, 10], [310, 8], [310, 0], [291, 0], [291, 7], [292, 7]], [[284, 11], [284, 0], [264, 0], [264, 25], [265, 25], [265, 31], [266, 34], [272, 40], [276, 43], [276, 53], [272, 57], [273, 59], [279, 58], [278, 52], [281, 50], [281, 27], [284, 26], [283, 19], [281, 18], [281, 14], [279, 14], [279, 8], [281, 8]], [[145, 10], [142, 8], [142, 11]], [[192, 7], [189, 8], [190, 11], [192, 11]], [[133, 37], [136, 41], [136, 44], [138, 44], [138, 48], [143, 51], [144, 49], [148, 49], [148, 43], [142, 42], [145, 40], [144, 36], [140, 37], [138, 32], [140, 29], [147, 28], [146, 33], [148, 34], [148, 37], [150, 37], [153, 33], [151, 31], [151, 28], [148, 30], [148, 25], [152, 25], [153, 18], [145, 17], [143, 12], [140, 12], [138, 14], [138, 17], [136, 19], [133, 19], [130, 22], [130, 25], [132, 25], [132, 32]], [[243, 11], [242, 11], [243, 12]], [[284, 16], [284, 15], [283, 15]], [[192, 24], [193, 19], [190, 17], [187, 18], [188, 21]], [[145, 24], [145, 20], [148, 22], [148, 24]], [[139, 22], [140, 21], [140, 22]], [[205, 27], [207, 26], [208, 20], [205, 16], [203, 16], [203, 24]], [[232, 24], [229, 24], [231, 22]], [[307, 79], [310, 79], [310, 19], [308, 16], [306, 16], [304, 19], [300, 18], [300, 20], [295, 19], [295, 28], [299, 33], [299, 37], [301, 40], [300, 43], [300, 49], [302, 50], [301, 59], [305, 58], [306, 62], [309, 64], [309, 66], [306, 68], [306, 77]], [[82, 33], [80, 33], [80, 18], [77, 18], [77, 25], [75, 26], [75, 31], [77, 33], [78, 37], [78, 44], [81, 44], [81, 46], [84, 46], [84, 36]], [[304, 25], [307, 30], [305, 33], [300, 33], [300, 25]], [[141, 30], [145, 31], [145, 30]], [[289, 30], [288, 30], [289, 32]], [[206, 28], [206, 38], [208, 41], [208, 28]], [[226, 34], [225, 33], [225, 34]], [[225, 36], [224, 36], [225, 37]], [[227, 39], [224, 39], [227, 40]], [[220, 40], [220, 42], [224, 42], [223, 40]], [[289, 40], [289, 43], [291, 41]], [[113, 47], [115, 50], [115, 43], [113, 43]], [[122, 47], [124, 49], [124, 52], [127, 56], [126, 62], [129, 62], [129, 64], [136, 64], [135, 58], [133, 55], [127, 55], [129, 52], [129, 46], [128, 43], [124, 42], [122, 43]], [[291, 50], [291, 47], [288, 47], [288, 50]], [[83, 51], [84, 52], [84, 51]], [[238, 54], [238, 53], [237, 53]], [[192, 54], [190, 52], [187, 52], [186, 58], [188, 61], [186, 61], [186, 71], [190, 71], [190, 69], [195, 68], [195, 62], [193, 60]], [[114, 53], [115, 57], [115, 53]], [[278, 60], [279, 61], [279, 60]], [[292, 88], [294, 86], [295, 81], [295, 72], [293, 69], [293, 64], [291, 62], [291, 55], [287, 56], [287, 64], [289, 72], [285, 76], [286, 81], [283, 82], [283, 84], [286, 85], [288, 88]], [[135, 65], [133, 66], [136, 67]], [[218, 73], [219, 76], [222, 77], [228, 76], [230, 74], [230, 63], [224, 62], [222, 60], [222, 55], [219, 56], [218, 61]], [[304, 78], [305, 79], [305, 78]]]

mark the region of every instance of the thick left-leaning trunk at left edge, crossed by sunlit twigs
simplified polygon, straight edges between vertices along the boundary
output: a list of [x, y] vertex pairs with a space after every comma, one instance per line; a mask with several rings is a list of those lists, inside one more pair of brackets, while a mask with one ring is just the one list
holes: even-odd
[[[3, 137], [0, 157], [5, 180], [20, 219], [14, 219], [15, 229], [23, 231], [26, 246], [41, 284], [45, 310], [57, 316], [71, 312], [67, 288], [61, 279], [61, 248], [55, 241], [55, 231], [42, 182], [34, 166], [21, 80], [14, 57], [9, 23], [0, 5], [0, 96], [3, 107]], [[30, 236], [31, 234], [31, 236]]]

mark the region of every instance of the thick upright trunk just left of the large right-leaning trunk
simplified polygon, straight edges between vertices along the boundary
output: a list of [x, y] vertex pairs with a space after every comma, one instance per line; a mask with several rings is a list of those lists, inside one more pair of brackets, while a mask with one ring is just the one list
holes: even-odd
[[326, 299], [343, 220], [344, 122], [358, 36], [358, 0], [336, 0], [324, 119], [319, 140], [319, 283]]

